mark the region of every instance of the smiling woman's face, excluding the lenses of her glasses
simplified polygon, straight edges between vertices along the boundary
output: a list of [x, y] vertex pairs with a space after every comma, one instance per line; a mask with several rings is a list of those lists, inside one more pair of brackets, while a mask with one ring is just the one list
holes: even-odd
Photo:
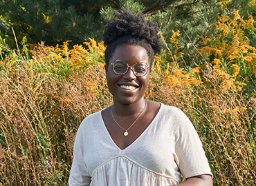
[[147, 50], [138, 45], [119, 45], [113, 52], [109, 65], [105, 65], [107, 85], [109, 92], [113, 95], [113, 101], [122, 104], [136, 103], [143, 99], [149, 84], [148, 70], [145, 76], [137, 77], [131, 68], [126, 74], [118, 75], [113, 72], [113, 63], [116, 60], [125, 61], [129, 66], [133, 66], [138, 62], [147, 63], [150, 66]]

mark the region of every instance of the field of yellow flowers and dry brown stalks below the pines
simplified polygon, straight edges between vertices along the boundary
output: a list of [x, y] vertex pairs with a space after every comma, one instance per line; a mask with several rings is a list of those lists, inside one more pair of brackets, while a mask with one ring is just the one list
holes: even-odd
[[[217, 34], [202, 37], [180, 68], [179, 31], [155, 57], [146, 98], [179, 107], [199, 133], [214, 185], [256, 185], [256, 48], [253, 18], [219, 15]], [[0, 42], [0, 185], [68, 185], [73, 141], [84, 117], [111, 105], [103, 43], [68, 49]], [[172, 53], [170, 53], [172, 51]], [[211, 59], [211, 56], [215, 56]]]

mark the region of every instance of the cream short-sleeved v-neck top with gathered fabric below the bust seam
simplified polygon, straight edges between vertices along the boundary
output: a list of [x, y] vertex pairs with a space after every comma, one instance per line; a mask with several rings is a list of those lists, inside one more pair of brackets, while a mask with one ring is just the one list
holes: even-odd
[[200, 138], [177, 107], [161, 103], [154, 120], [125, 149], [111, 138], [101, 111], [82, 121], [75, 137], [71, 186], [162, 186], [210, 174]]

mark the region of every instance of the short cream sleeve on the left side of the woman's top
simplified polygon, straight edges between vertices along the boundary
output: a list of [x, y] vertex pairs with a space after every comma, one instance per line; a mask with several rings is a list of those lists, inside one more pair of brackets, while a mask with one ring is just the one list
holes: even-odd
[[91, 176], [88, 176], [86, 165], [84, 163], [84, 147], [82, 128], [77, 130], [75, 136], [73, 163], [71, 173], [69, 175], [68, 184], [70, 186], [89, 186], [91, 183]]

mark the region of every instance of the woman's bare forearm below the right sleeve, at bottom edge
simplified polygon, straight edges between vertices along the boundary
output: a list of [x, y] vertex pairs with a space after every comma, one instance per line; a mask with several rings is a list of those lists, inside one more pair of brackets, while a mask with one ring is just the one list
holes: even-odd
[[191, 178], [188, 178], [183, 183], [180, 183], [178, 185], [181, 186], [212, 186], [212, 176], [208, 174], [202, 174], [199, 176], [194, 176]]

